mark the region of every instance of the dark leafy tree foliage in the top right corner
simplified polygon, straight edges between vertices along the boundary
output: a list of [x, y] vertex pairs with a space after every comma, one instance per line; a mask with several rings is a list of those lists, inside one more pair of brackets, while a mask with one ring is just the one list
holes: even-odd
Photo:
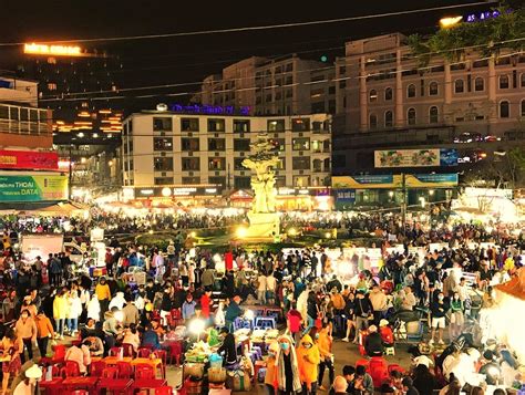
[[502, 6], [492, 9], [492, 12], [497, 12], [498, 15], [440, 29], [426, 39], [412, 34], [409, 37], [409, 45], [422, 65], [429, 64], [434, 56], [443, 56], [451, 62], [461, 61], [469, 49], [478, 51], [482, 58], [497, 58], [503, 49], [523, 51], [525, 10], [509, 10], [508, 7]]

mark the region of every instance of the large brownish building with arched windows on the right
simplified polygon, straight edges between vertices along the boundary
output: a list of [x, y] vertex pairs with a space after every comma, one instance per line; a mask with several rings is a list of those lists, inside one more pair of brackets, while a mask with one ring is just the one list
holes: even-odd
[[393, 33], [347, 42], [336, 80], [337, 174], [374, 171], [377, 149], [456, 148], [472, 165], [525, 139], [523, 53], [466, 50], [459, 61], [424, 64]]

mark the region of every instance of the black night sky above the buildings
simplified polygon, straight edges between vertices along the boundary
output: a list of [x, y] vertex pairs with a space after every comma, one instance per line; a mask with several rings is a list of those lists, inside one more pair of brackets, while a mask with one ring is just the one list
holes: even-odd
[[[422, 9], [474, 1], [156, 1], [156, 0], [2, 0], [0, 42], [44, 42], [78, 38], [162, 34], [209, 29], [301, 22]], [[351, 39], [401, 31], [430, 33], [437, 20], [494, 4], [364, 21], [258, 32], [235, 32], [140, 41], [80, 43], [122, 59], [115, 71], [121, 87], [200, 81], [250, 55], [285, 55], [329, 61], [343, 55]], [[0, 46], [0, 66], [13, 69], [20, 46]], [[197, 86], [184, 87], [184, 90]], [[153, 93], [143, 91], [142, 93]]]

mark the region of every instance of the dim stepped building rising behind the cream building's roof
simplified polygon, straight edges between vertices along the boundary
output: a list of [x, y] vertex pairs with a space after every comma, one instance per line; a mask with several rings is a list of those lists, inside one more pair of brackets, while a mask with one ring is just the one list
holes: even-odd
[[333, 114], [333, 65], [297, 55], [253, 56], [207, 76], [194, 102], [246, 106], [250, 115]]

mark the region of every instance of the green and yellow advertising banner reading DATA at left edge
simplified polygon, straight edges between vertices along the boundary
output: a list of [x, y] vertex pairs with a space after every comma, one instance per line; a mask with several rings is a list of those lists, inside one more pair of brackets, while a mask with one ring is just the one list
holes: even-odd
[[0, 202], [68, 199], [68, 177], [61, 175], [0, 175]]

